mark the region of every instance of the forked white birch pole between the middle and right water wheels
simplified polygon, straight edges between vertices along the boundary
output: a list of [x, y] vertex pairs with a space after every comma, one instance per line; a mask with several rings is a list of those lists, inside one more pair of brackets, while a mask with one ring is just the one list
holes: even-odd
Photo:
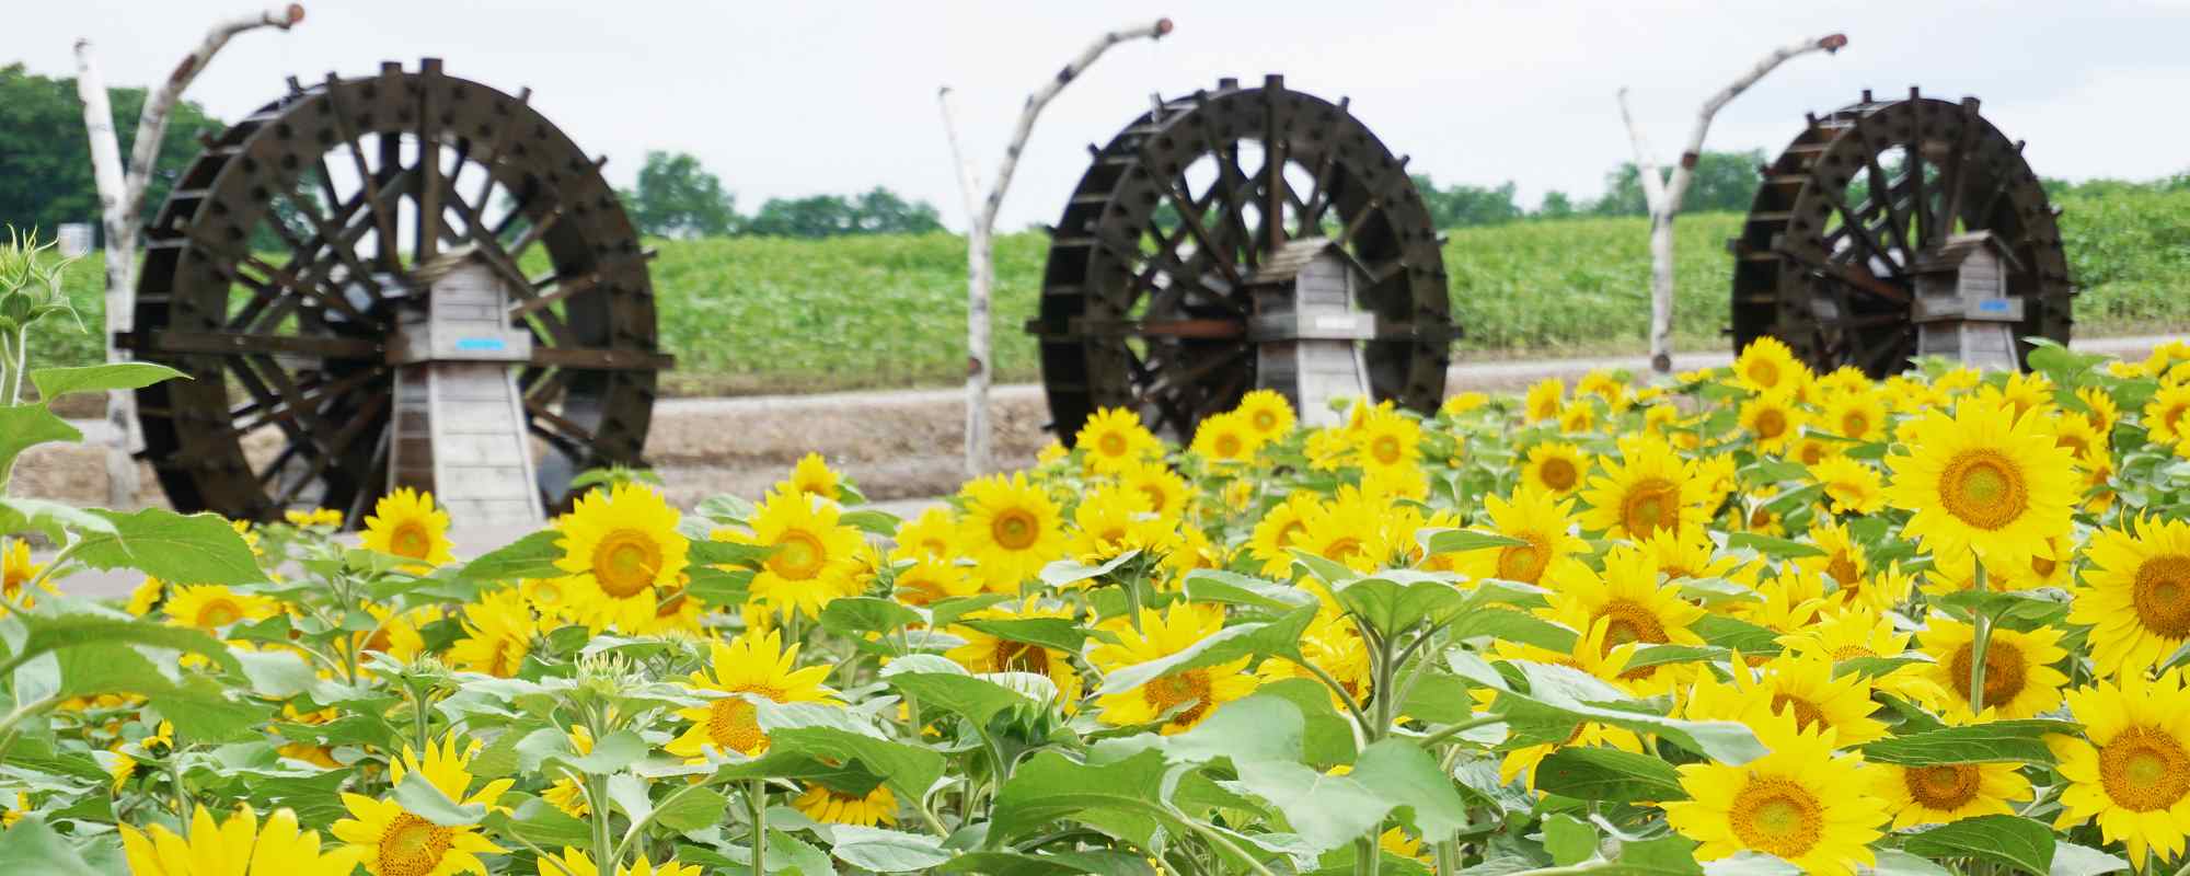
[[1636, 125], [1634, 114], [1627, 112], [1627, 90], [1621, 88], [1621, 120], [1627, 123], [1627, 138], [1634, 142], [1636, 171], [1642, 177], [1642, 199], [1649, 204], [1649, 366], [1660, 374], [1673, 370], [1673, 217], [1680, 212], [1680, 201], [1688, 195], [1688, 182], [1695, 175], [1695, 162], [1704, 155], [1704, 134], [1710, 131], [1710, 118], [1719, 114], [1728, 103], [1732, 103], [1741, 92], [1756, 85], [1767, 72], [1787, 64], [1787, 59], [1807, 53], [1833, 55], [1848, 44], [1846, 35], [1833, 33], [1818, 39], [1805, 39], [1791, 46], [1774, 48], [1763, 61], [1726, 85], [1695, 114], [1695, 129], [1688, 131], [1688, 147], [1680, 153], [1680, 164], [1673, 166], [1671, 175], [1658, 171], [1658, 162], [1651, 158], [1649, 145], [1642, 140], [1642, 129]]

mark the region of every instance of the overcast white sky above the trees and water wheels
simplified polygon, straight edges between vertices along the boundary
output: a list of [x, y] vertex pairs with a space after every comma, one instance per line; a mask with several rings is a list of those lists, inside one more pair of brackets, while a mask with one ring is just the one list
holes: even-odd
[[[219, 15], [250, 0], [9, 2], [0, 64], [72, 74], [70, 44], [99, 44], [110, 83], [173, 68]], [[629, 184], [648, 149], [696, 153], [751, 212], [780, 195], [883, 184], [961, 226], [935, 88], [950, 83], [983, 175], [1029, 90], [1095, 33], [1169, 15], [1161, 44], [1115, 48], [1036, 127], [1005, 228], [1056, 221], [1086, 160], [1150, 92], [1218, 77], [1353, 99], [1353, 112], [1439, 182], [1520, 184], [1579, 197], [1629, 158], [1614, 90], [1660, 155], [1708, 92], [1767, 48], [1848, 33], [1837, 57], [1796, 59], [1743, 94], [1710, 149], [1778, 151], [1805, 110], [1862, 88], [1978, 94], [2050, 177], [2157, 177], [2190, 169], [2190, 2], [664, 2], [315, 0], [291, 33], [228, 46], [191, 96], [239, 118], [285, 74], [364, 74], [381, 59], [447, 70], [534, 105]]]

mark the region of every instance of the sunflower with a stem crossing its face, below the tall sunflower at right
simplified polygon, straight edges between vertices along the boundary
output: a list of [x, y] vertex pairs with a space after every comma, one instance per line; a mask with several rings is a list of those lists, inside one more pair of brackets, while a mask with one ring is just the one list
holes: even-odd
[[[1929, 679], [1949, 692], [1943, 703], [1949, 712], [1969, 714], [1969, 670], [1973, 659], [1975, 631], [1958, 620], [1934, 613], [1925, 631], [1916, 635], [1918, 646], [1932, 657]], [[2035, 718], [2061, 705], [2061, 688], [2067, 675], [2054, 668], [2067, 650], [2061, 648], [2061, 631], [2039, 626], [2035, 631], [2013, 631], [1993, 626], [1984, 646], [1984, 707], [2002, 718]]]

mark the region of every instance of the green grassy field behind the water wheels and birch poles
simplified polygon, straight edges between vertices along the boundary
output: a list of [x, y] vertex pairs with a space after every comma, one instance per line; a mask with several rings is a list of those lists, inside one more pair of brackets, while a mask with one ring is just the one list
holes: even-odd
[[[2076, 331], [2122, 335], [2190, 326], [2190, 193], [2065, 197], [2061, 219], [2083, 298]], [[1724, 241], [1741, 217], [1688, 215], [1678, 234], [1682, 348], [1717, 348], [1732, 261]], [[966, 250], [957, 237], [832, 241], [657, 241], [661, 339], [679, 357], [681, 394], [819, 392], [944, 385], [966, 372]], [[996, 368], [1036, 379], [1034, 313], [1047, 239], [996, 241]], [[1642, 219], [1535, 221], [1463, 228], [1445, 245], [1463, 357], [1629, 353], [1649, 313]], [[70, 272], [70, 293], [94, 331], [99, 261]], [[83, 364], [96, 335], [37, 350]]]

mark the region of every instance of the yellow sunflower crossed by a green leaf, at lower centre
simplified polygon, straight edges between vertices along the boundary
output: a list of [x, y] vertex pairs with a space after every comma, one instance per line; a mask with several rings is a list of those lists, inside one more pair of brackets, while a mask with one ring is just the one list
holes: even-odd
[[[1180, 602], [1167, 611], [1141, 609], [1141, 624], [1134, 629], [1126, 618], [1104, 622], [1102, 631], [1117, 642], [1097, 644], [1088, 650], [1088, 661], [1104, 672], [1126, 666], [1148, 664], [1169, 657], [1215, 635], [1224, 629], [1224, 609], [1215, 604]], [[1095, 699], [1102, 723], [1134, 727], [1163, 721], [1163, 734], [1180, 734], [1218, 705], [1255, 692], [1255, 675], [1246, 670], [1253, 657], [1198, 670], [1169, 672], [1137, 688]]]

